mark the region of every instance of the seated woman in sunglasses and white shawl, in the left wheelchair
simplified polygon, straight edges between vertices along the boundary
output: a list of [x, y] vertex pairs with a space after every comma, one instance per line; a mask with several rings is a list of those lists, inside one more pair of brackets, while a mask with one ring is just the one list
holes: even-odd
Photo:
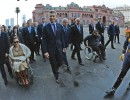
[[16, 77], [20, 78], [21, 84], [28, 85], [29, 81], [26, 76], [25, 69], [28, 68], [27, 59], [31, 55], [28, 47], [19, 43], [18, 37], [13, 39], [13, 46], [9, 51], [9, 56], [12, 64], [12, 69]]

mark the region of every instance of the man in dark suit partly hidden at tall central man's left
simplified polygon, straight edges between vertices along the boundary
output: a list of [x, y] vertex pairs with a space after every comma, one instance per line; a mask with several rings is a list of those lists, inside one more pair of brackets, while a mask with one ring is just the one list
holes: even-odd
[[[41, 51], [42, 51], [42, 31], [43, 31], [43, 27], [46, 25], [45, 23], [45, 18], [42, 17], [42, 22], [37, 26], [37, 34], [38, 34], [38, 37], [39, 37], [39, 42], [40, 42], [40, 45], [41, 45]], [[44, 56], [44, 53], [42, 51], [42, 56], [43, 56], [43, 59], [44, 61], [46, 61], [46, 58]]]

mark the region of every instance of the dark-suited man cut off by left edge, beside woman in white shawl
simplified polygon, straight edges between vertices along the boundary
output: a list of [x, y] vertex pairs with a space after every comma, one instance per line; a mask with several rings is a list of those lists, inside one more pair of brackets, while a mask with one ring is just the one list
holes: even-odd
[[[4, 69], [4, 64], [6, 63], [6, 59], [9, 54], [9, 47], [10, 45], [9, 45], [8, 35], [5, 32], [1, 32], [1, 29], [0, 29], [0, 71], [2, 74], [2, 78], [4, 79], [5, 85], [7, 85], [8, 81], [7, 81], [7, 76]], [[7, 66], [7, 68], [8, 68], [8, 72], [10, 76], [12, 76], [11, 66], [9, 65]]]

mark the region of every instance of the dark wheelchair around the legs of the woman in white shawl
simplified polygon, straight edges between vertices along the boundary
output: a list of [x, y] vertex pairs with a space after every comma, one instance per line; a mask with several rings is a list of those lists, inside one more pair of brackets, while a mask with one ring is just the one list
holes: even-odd
[[[28, 66], [28, 68], [25, 69], [26, 77], [27, 77], [27, 80], [28, 80], [28, 85], [26, 85], [26, 86], [30, 86], [30, 85], [33, 84], [34, 76], [33, 76], [33, 71], [32, 71], [30, 63], [27, 60], [26, 60], [26, 63], [27, 63], [27, 66]], [[12, 72], [13, 72], [14, 79], [16, 80], [18, 85], [19, 86], [25, 86], [25, 85], [22, 84], [22, 80], [17, 75], [17, 73], [14, 70]]]

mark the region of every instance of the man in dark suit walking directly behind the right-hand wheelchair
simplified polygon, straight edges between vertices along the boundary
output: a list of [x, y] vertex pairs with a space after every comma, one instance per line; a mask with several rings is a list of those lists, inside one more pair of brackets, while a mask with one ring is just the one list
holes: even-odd
[[101, 18], [98, 19], [98, 22], [96, 23], [96, 30], [98, 30], [100, 36], [101, 36], [101, 43], [104, 45], [104, 25], [101, 23]]

